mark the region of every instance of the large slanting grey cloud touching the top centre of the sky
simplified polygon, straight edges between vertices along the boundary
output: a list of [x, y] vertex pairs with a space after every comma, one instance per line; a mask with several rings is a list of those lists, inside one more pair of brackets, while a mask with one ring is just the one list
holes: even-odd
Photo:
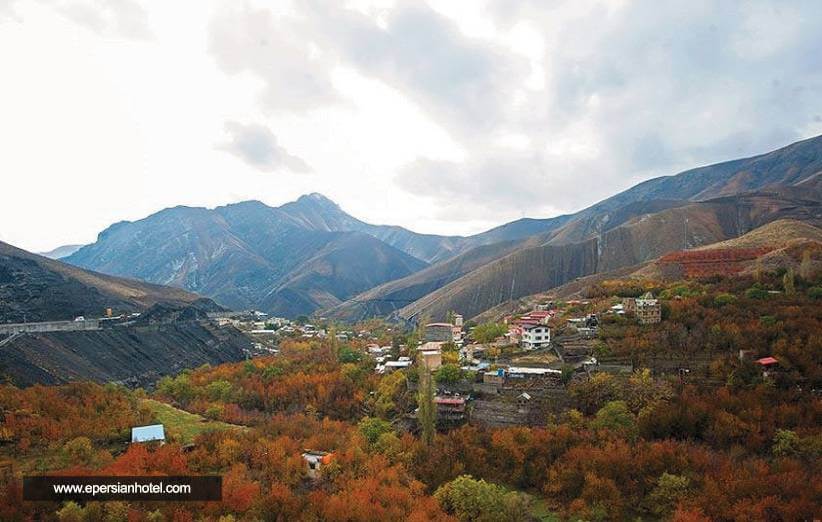
[[300, 6], [316, 40], [341, 63], [398, 89], [463, 140], [503, 123], [530, 73], [525, 59], [466, 36], [424, 2], [400, 1], [376, 18], [339, 2]]

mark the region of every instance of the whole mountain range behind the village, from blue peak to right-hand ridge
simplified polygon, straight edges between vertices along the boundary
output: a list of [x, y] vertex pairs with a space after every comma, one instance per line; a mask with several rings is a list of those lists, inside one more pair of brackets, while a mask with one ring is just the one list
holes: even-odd
[[[481, 313], [576, 277], [820, 219], [822, 137], [649, 180], [576, 214], [469, 236], [371, 225], [319, 194], [279, 208], [175, 207], [103, 231], [65, 261], [231, 308], [343, 319]], [[481, 203], [481, 202], [478, 202]]]

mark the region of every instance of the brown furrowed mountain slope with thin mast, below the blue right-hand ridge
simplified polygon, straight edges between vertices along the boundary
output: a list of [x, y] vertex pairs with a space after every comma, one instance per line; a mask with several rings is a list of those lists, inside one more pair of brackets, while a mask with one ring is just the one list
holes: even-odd
[[[777, 219], [822, 220], [820, 198], [794, 191], [751, 193], [674, 206], [635, 216], [580, 242], [547, 239], [528, 245], [404, 307], [399, 315], [444, 317], [456, 310], [473, 317], [505, 301], [535, 294], [575, 278], [655, 259], [667, 252], [740, 236]], [[561, 234], [560, 234], [561, 235]]]

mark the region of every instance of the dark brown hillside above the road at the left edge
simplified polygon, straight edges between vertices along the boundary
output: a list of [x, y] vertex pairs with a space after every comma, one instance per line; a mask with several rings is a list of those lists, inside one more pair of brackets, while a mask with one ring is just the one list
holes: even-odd
[[177, 288], [81, 270], [0, 243], [0, 322], [99, 317], [106, 308], [131, 312], [199, 298]]

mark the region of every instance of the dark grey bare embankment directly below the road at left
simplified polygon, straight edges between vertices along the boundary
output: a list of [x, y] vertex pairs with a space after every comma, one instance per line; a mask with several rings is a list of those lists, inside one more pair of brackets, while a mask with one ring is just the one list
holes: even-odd
[[250, 345], [235, 328], [195, 321], [22, 334], [0, 349], [0, 381], [16, 386], [77, 380], [146, 386], [186, 368], [243, 360]]

